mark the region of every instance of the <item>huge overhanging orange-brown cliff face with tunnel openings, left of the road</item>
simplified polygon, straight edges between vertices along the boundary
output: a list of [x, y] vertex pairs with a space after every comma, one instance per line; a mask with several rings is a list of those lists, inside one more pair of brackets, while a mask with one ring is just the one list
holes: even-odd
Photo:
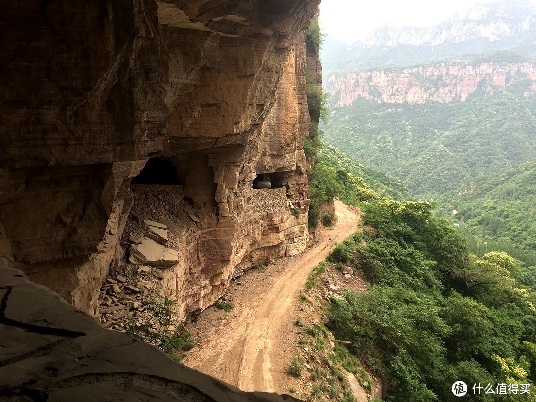
[[[276, 174], [306, 212], [300, 46], [317, 5], [6, 4], [2, 254], [95, 312], [110, 267], [129, 256], [123, 229], [134, 200], [143, 198], [130, 181], [150, 158], [168, 163], [181, 195], [176, 205], [191, 215], [187, 223], [168, 222], [181, 258], [163, 279], [183, 316], [212, 303], [237, 267], [303, 249], [306, 213], [262, 215], [250, 204], [257, 175]], [[146, 173], [151, 186], [169, 172]], [[156, 209], [146, 215], [170, 219]]]

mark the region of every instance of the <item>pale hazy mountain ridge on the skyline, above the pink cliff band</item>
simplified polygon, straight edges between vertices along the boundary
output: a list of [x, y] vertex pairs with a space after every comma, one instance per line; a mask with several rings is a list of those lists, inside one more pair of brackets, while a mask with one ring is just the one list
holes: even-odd
[[328, 36], [320, 56], [326, 76], [386, 64], [435, 64], [461, 55], [478, 64], [536, 62], [535, 28], [534, 4], [501, 1], [474, 6], [437, 26], [381, 27], [351, 46]]

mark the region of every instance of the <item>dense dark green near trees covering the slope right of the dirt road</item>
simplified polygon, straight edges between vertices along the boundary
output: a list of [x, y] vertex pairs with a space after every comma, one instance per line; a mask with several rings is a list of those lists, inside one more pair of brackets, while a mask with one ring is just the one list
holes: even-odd
[[[530, 274], [505, 252], [471, 254], [424, 202], [370, 202], [363, 224], [329, 260], [351, 264], [370, 285], [333, 297], [329, 314], [337, 339], [386, 378], [393, 400], [459, 400], [455, 381], [469, 385], [467, 400], [536, 400], [534, 393], [498, 395], [496, 387], [533, 388]], [[475, 395], [479, 383], [493, 394]]]

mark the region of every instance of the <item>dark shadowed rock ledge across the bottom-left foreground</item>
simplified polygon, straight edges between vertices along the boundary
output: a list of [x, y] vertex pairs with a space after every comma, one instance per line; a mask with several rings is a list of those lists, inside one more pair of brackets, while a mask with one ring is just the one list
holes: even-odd
[[296, 401], [243, 392], [102, 329], [0, 256], [0, 399], [10, 401]]

